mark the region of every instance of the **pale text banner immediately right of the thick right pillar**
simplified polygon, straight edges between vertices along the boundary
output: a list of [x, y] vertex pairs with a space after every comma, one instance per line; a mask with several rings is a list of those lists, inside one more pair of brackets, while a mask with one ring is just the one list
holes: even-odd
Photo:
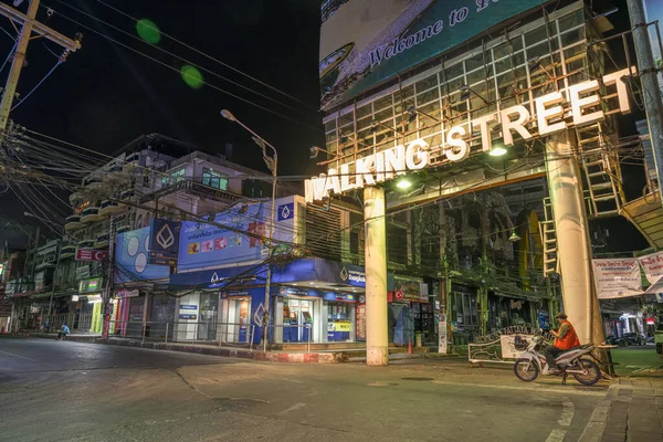
[[642, 278], [636, 257], [592, 260], [599, 299], [642, 295]]

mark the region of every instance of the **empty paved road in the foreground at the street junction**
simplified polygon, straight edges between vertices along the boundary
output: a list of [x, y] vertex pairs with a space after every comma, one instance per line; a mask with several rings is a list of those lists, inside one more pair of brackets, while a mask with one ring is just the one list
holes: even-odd
[[607, 386], [0, 338], [0, 441], [576, 441]]

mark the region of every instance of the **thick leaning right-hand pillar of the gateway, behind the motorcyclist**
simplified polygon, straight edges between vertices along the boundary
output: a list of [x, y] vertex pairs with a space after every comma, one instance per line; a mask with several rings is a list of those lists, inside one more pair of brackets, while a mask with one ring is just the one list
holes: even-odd
[[[547, 175], [557, 232], [557, 260], [561, 273], [564, 309], [581, 344], [601, 344], [599, 301], [591, 277], [591, 245], [587, 228], [582, 176], [570, 131], [546, 144]], [[554, 317], [550, 322], [554, 322]]]

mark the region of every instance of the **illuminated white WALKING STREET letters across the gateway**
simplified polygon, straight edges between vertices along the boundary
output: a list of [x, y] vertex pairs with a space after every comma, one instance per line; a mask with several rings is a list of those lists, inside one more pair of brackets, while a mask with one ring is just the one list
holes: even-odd
[[[604, 75], [601, 81], [609, 94], [617, 94], [622, 114], [631, 110], [629, 92], [621, 80], [635, 73], [635, 69], [622, 70]], [[429, 146], [423, 139], [408, 145], [392, 147], [362, 158], [354, 164], [329, 168], [327, 173], [314, 177], [305, 182], [306, 202], [319, 201], [332, 193], [344, 193], [366, 186], [375, 186], [431, 166], [432, 157], [445, 156], [452, 162], [463, 161], [470, 156], [469, 138], [481, 139], [481, 150], [492, 149], [491, 133], [495, 126], [502, 131], [504, 146], [514, 145], [514, 135], [528, 140], [535, 136], [549, 136], [572, 126], [585, 126], [606, 118], [601, 110], [600, 84], [591, 80], [569, 86], [561, 91], [544, 95], [534, 101], [536, 114], [523, 105], [507, 107], [497, 113], [481, 116], [470, 124], [453, 126], [442, 134], [439, 146]], [[436, 166], [436, 165], [435, 165]]]

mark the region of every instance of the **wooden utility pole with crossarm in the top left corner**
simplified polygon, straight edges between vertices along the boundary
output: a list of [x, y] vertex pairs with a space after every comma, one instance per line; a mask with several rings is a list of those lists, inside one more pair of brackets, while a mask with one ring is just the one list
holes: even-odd
[[63, 61], [70, 52], [75, 52], [77, 49], [81, 49], [80, 35], [76, 38], [76, 40], [72, 40], [35, 20], [36, 11], [39, 10], [39, 1], [40, 0], [30, 1], [27, 15], [0, 2], [0, 14], [7, 17], [13, 23], [22, 25], [21, 33], [19, 34], [19, 40], [17, 42], [13, 61], [11, 62], [9, 76], [7, 77], [7, 84], [4, 85], [2, 101], [0, 102], [0, 133], [7, 129], [7, 125], [9, 123], [9, 112], [11, 110], [11, 104], [13, 103], [13, 97], [17, 92], [19, 76], [21, 75], [21, 69], [23, 67], [23, 63], [25, 61], [28, 43], [30, 43], [30, 40], [32, 39], [32, 32], [35, 32], [42, 38], [45, 38], [64, 48], [64, 53], [62, 54], [61, 59]]

